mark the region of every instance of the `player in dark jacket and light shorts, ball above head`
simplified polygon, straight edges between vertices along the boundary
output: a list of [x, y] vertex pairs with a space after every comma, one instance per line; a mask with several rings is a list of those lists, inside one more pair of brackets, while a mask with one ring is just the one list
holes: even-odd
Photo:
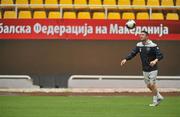
[[148, 35], [147, 31], [141, 32], [139, 35], [141, 42], [137, 43], [132, 52], [121, 61], [121, 66], [135, 57], [138, 53], [140, 54], [144, 81], [153, 93], [153, 103], [149, 104], [149, 106], [157, 106], [164, 99], [159, 93], [156, 84], [156, 77], [158, 74], [157, 63], [163, 59], [163, 55], [157, 44], [149, 40]]

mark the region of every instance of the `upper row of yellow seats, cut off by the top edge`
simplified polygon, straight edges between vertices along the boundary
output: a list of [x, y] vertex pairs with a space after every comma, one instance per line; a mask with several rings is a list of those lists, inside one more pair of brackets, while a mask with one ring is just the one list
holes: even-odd
[[[1, 4], [27, 4], [27, 6], [20, 7], [28, 7], [28, 4], [57, 4], [57, 6], [47, 6], [46, 8], [58, 8], [58, 4], [179, 6], [180, 0], [1, 0]], [[31, 8], [43, 8], [43, 5]]]

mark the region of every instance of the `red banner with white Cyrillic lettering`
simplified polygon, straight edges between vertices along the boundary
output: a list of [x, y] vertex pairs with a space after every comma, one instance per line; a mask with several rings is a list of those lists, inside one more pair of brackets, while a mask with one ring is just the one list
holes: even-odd
[[142, 30], [152, 40], [180, 40], [180, 21], [136, 20], [129, 30], [127, 20], [97, 19], [1, 19], [1, 40], [138, 40]]

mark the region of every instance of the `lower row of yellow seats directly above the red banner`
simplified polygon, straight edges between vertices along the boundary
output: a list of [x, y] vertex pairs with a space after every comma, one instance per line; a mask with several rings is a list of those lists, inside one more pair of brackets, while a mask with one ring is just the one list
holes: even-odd
[[[3, 16], [3, 17], [2, 17]], [[17, 14], [19, 19], [58, 19], [61, 18], [61, 14], [59, 11], [19, 11]], [[0, 18], [4, 19], [16, 19], [15, 11], [5, 11], [2, 15], [0, 13]], [[105, 19], [104, 12], [74, 12], [74, 11], [66, 11], [62, 14], [62, 18], [64, 19]], [[133, 12], [123, 12], [122, 14], [119, 12], [108, 12], [107, 19], [154, 19], [154, 20], [179, 20], [179, 15], [177, 13], [167, 13], [164, 17], [163, 13], [152, 13], [151, 18], [147, 12], [138, 12], [134, 14]]]

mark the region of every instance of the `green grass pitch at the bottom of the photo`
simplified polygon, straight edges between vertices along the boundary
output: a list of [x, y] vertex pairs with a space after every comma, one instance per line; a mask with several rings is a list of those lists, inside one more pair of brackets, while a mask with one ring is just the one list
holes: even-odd
[[180, 97], [0, 96], [0, 117], [180, 117]]

